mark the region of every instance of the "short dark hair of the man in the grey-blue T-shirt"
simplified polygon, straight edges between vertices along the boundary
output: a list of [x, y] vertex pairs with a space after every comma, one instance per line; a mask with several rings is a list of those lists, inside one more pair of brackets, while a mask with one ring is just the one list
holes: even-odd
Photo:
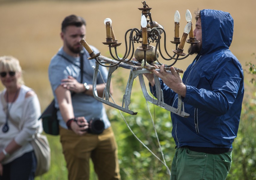
[[65, 29], [68, 26], [81, 27], [83, 25], [86, 26], [86, 21], [84, 20], [84, 18], [72, 14], [72, 15], [65, 17], [65, 19], [62, 21], [61, 31], [65, 32]]

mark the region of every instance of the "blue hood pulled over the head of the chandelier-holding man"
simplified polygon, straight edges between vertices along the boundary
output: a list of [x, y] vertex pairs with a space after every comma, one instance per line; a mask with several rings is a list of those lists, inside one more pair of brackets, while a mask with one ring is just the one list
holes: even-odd
[[219, 49], [228, 49], [233, 39], [234, 22], [230, 13], [221, 10], [200, 11], [202, 26], [202, 50], [208, 54]]

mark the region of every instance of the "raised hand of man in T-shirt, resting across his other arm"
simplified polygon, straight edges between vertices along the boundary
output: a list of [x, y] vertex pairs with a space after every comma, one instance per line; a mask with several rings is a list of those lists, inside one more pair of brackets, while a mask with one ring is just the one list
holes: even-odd
[[84, 84], [78, 82], [74, 77], [68, 76], [68, 79], [62, 79], [61, 85], [63, 88], [66, 88], [70, 91], [74, 91], [75, 93], [84, 92]]

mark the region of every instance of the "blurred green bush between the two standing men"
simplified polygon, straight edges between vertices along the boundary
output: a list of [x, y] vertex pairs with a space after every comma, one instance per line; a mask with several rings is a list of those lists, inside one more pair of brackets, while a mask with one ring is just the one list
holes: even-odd
[[[144, 96], [140, 93], [132, 95], [129, 108], [136, 110], [138, 114], [134, 116], [121, 112], [125, 120], [118, 110], [111, 109], [111, 112], [108, 112], [111, 114], [109, 118], [115, 129], [122, 179], [169, 179], [167, 168], [139, 140], [163, 161], [157, 141], [158, 136], [166, 164], [170, 169], [175, 153], [170, 112], [151, 103], [147, 106]], [[153, 121], [148, 108], [152, 113]], [[132, 134], [125, 121], [139, 140]]]

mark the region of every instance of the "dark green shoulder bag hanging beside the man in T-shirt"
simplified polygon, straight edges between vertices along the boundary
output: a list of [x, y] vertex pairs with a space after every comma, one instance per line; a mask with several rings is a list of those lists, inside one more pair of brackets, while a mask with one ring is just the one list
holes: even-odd
[[59, 120], [57, 119], [58, 109], [55, 107], [55, 101], [49, 104], [39, 119], [42, 119], [44, 132], [51, 135], [59, 135]]

